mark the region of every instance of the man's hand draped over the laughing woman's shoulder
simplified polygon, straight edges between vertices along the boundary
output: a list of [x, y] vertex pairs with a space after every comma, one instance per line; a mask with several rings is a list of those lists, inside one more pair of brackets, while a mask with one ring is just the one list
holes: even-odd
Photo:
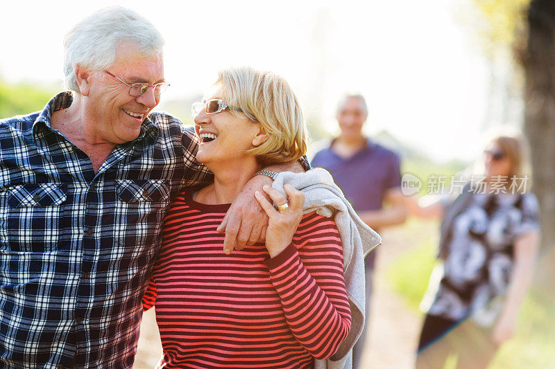
[[248, 181], [225, 214], [217, 230], [225, 232], [224, 253], [230, 254], [233, 249], [242, 250], [246, 244], [266, 240], [268, 215], [255, 198], [255, 191], [262, 190], [264, 185], [272, 186], [272, 179], [258, 175]]

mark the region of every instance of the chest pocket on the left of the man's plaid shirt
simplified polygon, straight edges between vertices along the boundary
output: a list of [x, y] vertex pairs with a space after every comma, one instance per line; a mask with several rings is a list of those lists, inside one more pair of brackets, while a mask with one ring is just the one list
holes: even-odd
[[0, 200], [0, 247], [8, 251], [54, 251], [62, 233], [67, 199], [64, 183], [28, 183], [6, 188]]

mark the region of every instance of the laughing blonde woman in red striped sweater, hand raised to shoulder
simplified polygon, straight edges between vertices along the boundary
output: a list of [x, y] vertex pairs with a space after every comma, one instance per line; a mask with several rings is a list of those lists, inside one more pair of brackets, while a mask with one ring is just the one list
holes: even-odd
[[303, 195], [270, 186], [256, 196], [266, 242], [226, 254], [216, 232], [264, 165], [299, 159], [307, 143], [296, 96], [283, 78], [227, 69], [194, 105], [196, 159], [214, 183], [185, 190], [164, 221], [144, 297], [155, 306], [164, 368], [312, 368], [350, 330], [341, 240], [332, 219], [302, 215]]

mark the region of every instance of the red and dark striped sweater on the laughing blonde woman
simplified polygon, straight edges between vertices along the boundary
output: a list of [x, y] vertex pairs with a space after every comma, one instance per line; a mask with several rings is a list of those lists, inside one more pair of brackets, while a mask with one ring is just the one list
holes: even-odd
[[350, 329], [341, 240], [310, 213], [275, 258], [264, 244], [223, 253], [229, 205], [173, 202], [143, 298], [153, 305], [164, 368], [312, 368]]

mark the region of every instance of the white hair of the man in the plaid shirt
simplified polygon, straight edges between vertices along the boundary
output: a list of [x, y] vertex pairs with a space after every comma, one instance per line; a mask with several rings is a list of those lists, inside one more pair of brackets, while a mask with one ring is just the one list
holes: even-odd
[[76, 66], [95, 71], [108, 69], [116, 60], [116, 49], [131, 42], [141, 55], [162, 52], [164, 39], [150, 21], [133, 10], [114, 6], [94, 12], [71, 28], [64, 40], [64, 82], [78, 92]]

